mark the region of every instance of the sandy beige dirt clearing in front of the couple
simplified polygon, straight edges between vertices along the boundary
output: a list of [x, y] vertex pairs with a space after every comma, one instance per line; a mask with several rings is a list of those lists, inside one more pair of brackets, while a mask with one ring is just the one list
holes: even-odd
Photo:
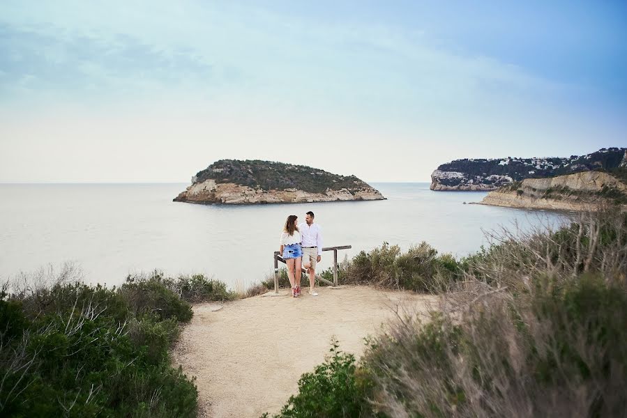
[[[395, 307], [423, 311], [433, 297], [365, 286], [197, 304], [174, 348], [174, 362], [196, 376], [201, 417], [259, 417], [278, 412], [302, 373], [324, 361], [331, 336], [360, 356], [363, 338], [380, 330]], [[292, 318], [292, 320], [290, 320]]]

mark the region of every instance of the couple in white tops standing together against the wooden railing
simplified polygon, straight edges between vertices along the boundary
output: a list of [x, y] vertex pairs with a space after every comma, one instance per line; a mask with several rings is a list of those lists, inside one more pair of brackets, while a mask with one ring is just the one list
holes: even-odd
[[280, 253], [287, 265], [287, 277], [292, 285], [292, 297], [301, 294], [301, 270], [304, 267], [309, 272], [309, 294], [317, 296], [314, 291], [316, 278], [316, 263], [322, 258], [322, 234], [320, 226], [314, 224], [314, 214], [309, 211], [305, 215], [305, 222], [301, 224], [299, 217], [289, 215], [283, 233], [281, 234]]

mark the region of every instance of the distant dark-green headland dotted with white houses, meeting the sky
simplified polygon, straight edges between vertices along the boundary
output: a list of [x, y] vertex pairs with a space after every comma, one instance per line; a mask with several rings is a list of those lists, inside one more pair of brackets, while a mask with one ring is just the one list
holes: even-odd
[[464, 159], [441, 164], [431, 175], [432, 190], [490, 191], [526, 178], [546, 178], [627, 164], [627, 148], [601, 148], [571, 157]]

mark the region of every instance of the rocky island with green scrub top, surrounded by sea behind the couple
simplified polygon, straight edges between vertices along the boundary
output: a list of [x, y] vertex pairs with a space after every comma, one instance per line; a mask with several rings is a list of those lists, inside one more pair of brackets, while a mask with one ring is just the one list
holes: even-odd
[[261, 160], [220, 160], [192, 177], [174, 201], [204, 204], [311, 203], [383, 200], [356, 176]]

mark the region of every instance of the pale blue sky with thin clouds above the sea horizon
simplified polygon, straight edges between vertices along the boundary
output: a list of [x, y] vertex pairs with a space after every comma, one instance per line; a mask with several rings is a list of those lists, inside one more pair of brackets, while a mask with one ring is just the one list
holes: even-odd
[[0, 183], [627, 146], [626, 39], [626, 1], [3, 0]]

